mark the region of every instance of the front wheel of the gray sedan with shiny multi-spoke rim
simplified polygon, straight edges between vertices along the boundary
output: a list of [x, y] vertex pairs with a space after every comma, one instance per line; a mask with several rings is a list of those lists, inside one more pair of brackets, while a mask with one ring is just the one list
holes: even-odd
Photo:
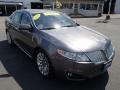
[[53, 69], [48, 56], [43, 51], [39, 50], [35, 59], [41, 75], [45, 78], [53, 78]]

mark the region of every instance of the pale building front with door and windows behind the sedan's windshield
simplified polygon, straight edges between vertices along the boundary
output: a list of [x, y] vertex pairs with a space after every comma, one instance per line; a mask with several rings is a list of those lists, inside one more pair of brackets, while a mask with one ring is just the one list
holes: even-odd
[[58, 10], [68, 15], [101, 16], [104, 0], [43, 0], [45, 9]]

